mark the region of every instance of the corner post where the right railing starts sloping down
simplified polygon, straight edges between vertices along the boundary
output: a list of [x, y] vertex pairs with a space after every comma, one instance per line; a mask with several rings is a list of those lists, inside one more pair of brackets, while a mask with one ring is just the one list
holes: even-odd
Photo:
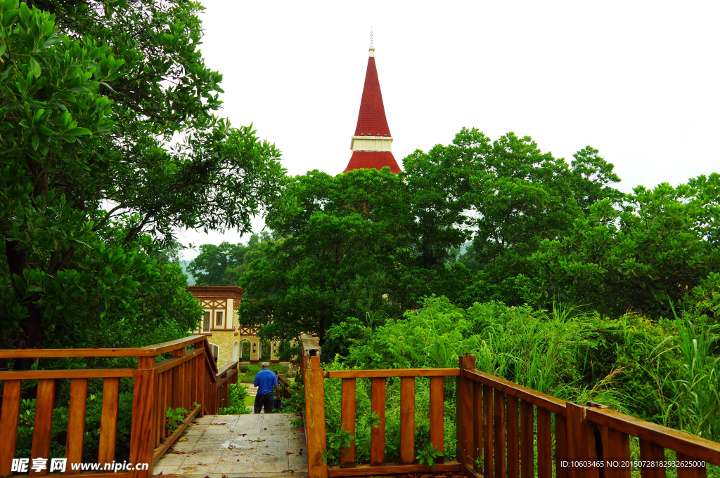
[[[460, 374], [457, 377], [456, 406], [457, 406], [457, 451], [456, 459], [460, 464], [474, 465], [477, 458], [476, 446], [473, 440], [475, 416], [472, 409], [474, 382], [462, 376], [463, 370], [475, 369], [475, 357], [465, 354], [458, 357]], [[479, 385], [478, 385], [479, 386]]]

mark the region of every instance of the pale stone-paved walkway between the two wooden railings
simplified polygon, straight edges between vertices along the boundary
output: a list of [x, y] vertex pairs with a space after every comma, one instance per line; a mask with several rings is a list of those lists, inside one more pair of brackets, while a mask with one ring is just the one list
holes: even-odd
[[[156, 463], [153, 474], [233, 477], [307, 476], [307, 446], [298, 415], [206, 415]], [[213, 475], [216, 475], [215, 477]], [[225, 475], [225, 476], [223, 476]]]

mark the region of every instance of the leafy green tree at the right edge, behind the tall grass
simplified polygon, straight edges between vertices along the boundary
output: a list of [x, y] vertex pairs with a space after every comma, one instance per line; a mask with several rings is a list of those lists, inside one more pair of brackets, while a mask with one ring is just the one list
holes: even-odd
[[608, 199], [595, 203], [534, 254], [540, 281], [534, 299], [656, 317], [670, 315], [672, 304], [701, 303], [720, 278], [719, 198], [714, 173], [677, 188], [639, 186], [621, 211]]

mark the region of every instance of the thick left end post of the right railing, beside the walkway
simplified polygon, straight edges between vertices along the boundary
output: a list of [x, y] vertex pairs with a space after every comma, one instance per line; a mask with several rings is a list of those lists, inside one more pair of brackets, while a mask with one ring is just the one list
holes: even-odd
[[307, 438], [307, 472], [310, 478], [328, 478], [325, 452], [325, 388], [320, 357], [302, 357], [305, 381], [305, 436]]

